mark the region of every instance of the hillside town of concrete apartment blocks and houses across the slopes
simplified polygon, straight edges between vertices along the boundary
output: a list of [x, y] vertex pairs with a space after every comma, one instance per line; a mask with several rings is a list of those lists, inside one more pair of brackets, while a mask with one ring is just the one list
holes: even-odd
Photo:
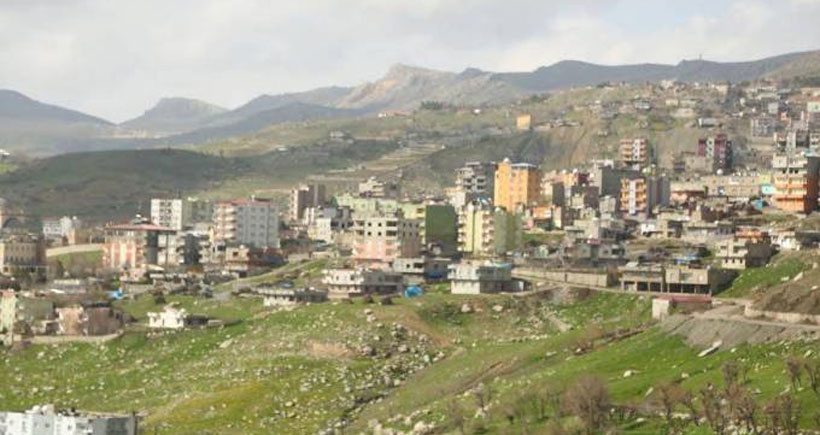
[[[36, 216], [26, 204], [2, 200], [3, 343], [22, 351], [236, 323], [197, 312], [196, 301], [252, 301], [257, 310], [289, 312], [351, 301], [390, 305], [428, 292], [578, 289], [645, 297], [655, 321], [687, 313], [820, 332], [820, 305], [810, 302], [820, 249], [820, 88], [762, 80], [605, 83], [596, 90], [632, 96], [572, 112], [610, 122], [668, 117], [687, 125], [693, 139], [661, 155], [663, 139], [601, 131], [609, 156], [572, 168], [464, 161], [439, 193], [382, 174], [341, 186], [306, 180], [285, 201], [167, 196], [122, 222]], [[537, 105], [512, 105], [517, 113], [502, 134], [577, 128], [572, 119], [521, 107]], [[384, 114], [393, 116], [404, 115]], [[776, 275], [778, 262], [798, 255], [800, 270]], [[789, 283], [788, 297], [797, 300], [740, 293], [744, 279], [762, 276], [756, 270], [772, 271], [772, 286]], [[193, 305], [172, 301], [179, 295]], [[128, 307], [141, 301], [154, 308], [135, 316]], [[372, 310], [366, 317], [373, 321]], [[712, 351], [720, 347], [717, 341]], [[57, 422], [72, 415], [128, 428], [88, 433], [137, 430], [136, 413], [72, 412], [43, 405], [7, 413], [0, 433], [34, 433], [20, 428], [46, 417], [67, 424]]]

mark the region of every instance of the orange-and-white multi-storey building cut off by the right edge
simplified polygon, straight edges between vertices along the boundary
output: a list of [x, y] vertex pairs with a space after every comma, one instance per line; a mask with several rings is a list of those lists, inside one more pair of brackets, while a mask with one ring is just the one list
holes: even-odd
[[775, 207], [806, 214], [817, 208], [820, 157], [776, 154], [772, 168]]

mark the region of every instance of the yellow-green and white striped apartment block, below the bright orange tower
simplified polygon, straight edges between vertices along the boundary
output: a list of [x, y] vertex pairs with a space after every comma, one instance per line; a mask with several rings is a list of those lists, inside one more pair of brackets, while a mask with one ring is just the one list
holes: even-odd
[[468, 204], [459, 213], [458, 250], [475, 257], [504, 255], [521, 247], [521, 216], [488, 203]]

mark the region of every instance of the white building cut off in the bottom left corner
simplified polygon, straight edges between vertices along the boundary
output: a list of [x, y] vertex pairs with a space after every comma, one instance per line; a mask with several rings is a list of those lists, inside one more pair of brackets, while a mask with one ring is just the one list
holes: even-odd
[[24, 412], [0, 412], [3, 435], [137, 435], [136, 414], [116, 415], [35, 406]]

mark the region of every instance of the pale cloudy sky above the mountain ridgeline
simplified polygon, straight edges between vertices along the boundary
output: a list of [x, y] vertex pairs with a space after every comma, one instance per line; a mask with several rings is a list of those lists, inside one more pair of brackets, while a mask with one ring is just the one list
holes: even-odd
[[529, 71], [820, 48], [820, 0], [0, 0], [0, 89], [120, 122], [227, 108], [393, 64]]

